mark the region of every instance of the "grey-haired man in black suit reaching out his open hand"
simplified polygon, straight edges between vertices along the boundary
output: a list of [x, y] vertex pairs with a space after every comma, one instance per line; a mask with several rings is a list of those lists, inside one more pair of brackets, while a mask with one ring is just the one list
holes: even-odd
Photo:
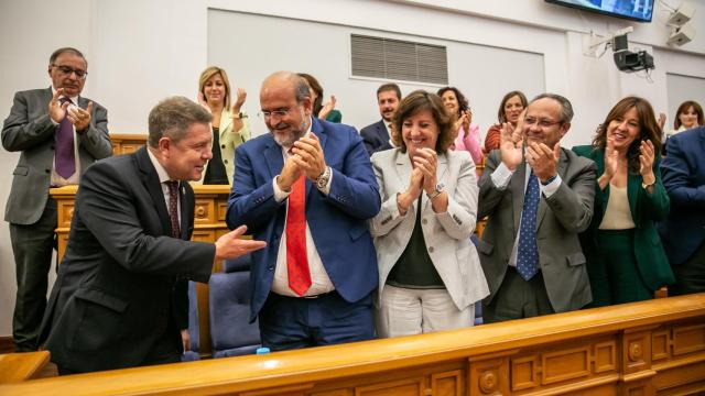
[[183, 279], [207, 283], [214, 260], [264, 248], [238, 239], [191, 242], [194, 193], [213, 156], [210, 114], [183, 97], [149, 116], [148, 145], [90, 166], [42, 323], [59, 374], [178, 362]]

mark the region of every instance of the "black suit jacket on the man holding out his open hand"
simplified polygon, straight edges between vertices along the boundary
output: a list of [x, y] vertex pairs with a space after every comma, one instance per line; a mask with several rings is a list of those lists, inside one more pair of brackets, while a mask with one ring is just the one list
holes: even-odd
[[53, 362], [78, 372], [131, 367], [162, 337], [181, 344], [178, 329], [167, 327], [187, 308], [184, 295], [173, 301], [176, 279], [208, 282], [215, 245], [187, 241], [194, 228], [187, 183], [180, 195], [181, 240], [169, 237], [164, 195], [145, 147], [86, 170], [40, 333]]

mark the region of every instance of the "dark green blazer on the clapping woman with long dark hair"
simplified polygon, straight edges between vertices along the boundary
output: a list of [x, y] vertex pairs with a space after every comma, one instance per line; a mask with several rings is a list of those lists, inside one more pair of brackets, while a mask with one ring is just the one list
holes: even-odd
[[[598, 177], [605, 172], [605, 151], [603, 148], [593, 150], [590, 145], [582, 145], [573, 147], [573, 152], [595, 161]], [[655, 221], [664, 219], [670, 210], [669, 195], [661, 183], [660, 162], [661, 157], [657, 153], [657, 158], [653, 164], [653, 174], [657, 177], [657, 182], [653, 186], [652, 194], [647, 193], [647, 190], [641, 187], [643, 183], [641, 175], [632, 173], [627, 175], [627, 197], [631, 218], [634, 222], [634, 256], [637, 258], [639, 273], [647, 287], [651, 290], [657, 290], [662, 286], [675, 282], [673, 272], [669, 265], [669, 260], [661, 244], [661, 238], [654, 224]], [[590, 267], [595, 268], [596, 260], [598, 260], [597, 253], [599, 252], [599, 245], [595, 237], [605, 217], [608, 200], [609, 186], [601, 190], [596, 183], [595, 215], [593, 216], [590, 227], [581, 235], [581, 243], [587, 258], [588, 274], [592, 272]], [[593, 265], [590, 265], [590, 263]], [[592, 286], [594, 294], [600, 288], [599, 285]], [[597, 298], [595, 302], [599, 304]]]

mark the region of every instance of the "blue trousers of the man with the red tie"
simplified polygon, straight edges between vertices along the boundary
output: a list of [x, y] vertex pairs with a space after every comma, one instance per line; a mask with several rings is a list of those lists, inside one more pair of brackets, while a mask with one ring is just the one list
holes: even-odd
[[262, 345], [271, 351], [370, 340], [371, 295], [348, 302], [337, 292], [318, 298], [270, 293], [259, 315]]

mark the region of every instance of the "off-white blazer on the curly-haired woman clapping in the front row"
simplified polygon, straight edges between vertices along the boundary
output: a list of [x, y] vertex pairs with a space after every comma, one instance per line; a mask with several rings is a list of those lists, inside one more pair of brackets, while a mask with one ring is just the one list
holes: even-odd
[[[379, 265], [379, 292], [387, 276], [406, 248], [416, 221], [417, 200], [400, 216], [397, 194], [409, 187], [412, 164], [401, 148], [372, 155], [372, 167], [379, 184], [382, 208], [370, 220]], [[421, 228], [431, 261], [458, 309], [489, 295], [480, 261], [470, 242], [477, 221], [477, 179], [475, 163], [468, 152], [438, 155], [437, 179], [448, 194], [448, 209], [435, 213], [425, 193], [422, 193]], [[378, 300], [379, 304], [379, 300]]]

